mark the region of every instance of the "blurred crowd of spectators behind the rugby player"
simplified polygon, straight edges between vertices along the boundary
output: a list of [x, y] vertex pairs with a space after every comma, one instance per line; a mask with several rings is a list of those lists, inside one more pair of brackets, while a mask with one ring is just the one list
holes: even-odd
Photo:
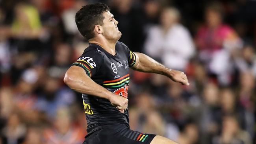
[[190, 85], [131, 70], [131, 129], [180, 144], [256, 144], [255, 0], [0, 0], [0, 144], [81, 144], [82, 96], [63, 77], [87, 41], [74, 15], [104, 2], [119, 41]]

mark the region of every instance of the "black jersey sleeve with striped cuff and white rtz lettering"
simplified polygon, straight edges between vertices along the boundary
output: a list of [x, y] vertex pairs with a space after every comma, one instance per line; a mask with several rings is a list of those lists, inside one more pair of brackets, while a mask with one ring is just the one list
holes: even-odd
[[98, 52], [85, 52], [71, 66], [79, 66], [83, 68], [87, 76], [91, 78], [97, 73], [98, 69], [100, 68], [100, 63], [102, 59], [103, 56], [101, 54], [98, 54]]

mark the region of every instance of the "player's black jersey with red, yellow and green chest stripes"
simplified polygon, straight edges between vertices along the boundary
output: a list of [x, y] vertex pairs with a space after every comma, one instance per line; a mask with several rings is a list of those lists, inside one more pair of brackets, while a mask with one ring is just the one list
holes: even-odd
[[[128, 98], [129, 67], [136, 56], [122, 42], [117, 42], [115, 55], [97, 44], [91, 44], [72, 65], [82, 67], [96, 83], [111, 92]], [[121, 123], [129, 127], [128, 109], [121, 113], [105, 98], [82, 94], [88, 134], [110, 124]]]

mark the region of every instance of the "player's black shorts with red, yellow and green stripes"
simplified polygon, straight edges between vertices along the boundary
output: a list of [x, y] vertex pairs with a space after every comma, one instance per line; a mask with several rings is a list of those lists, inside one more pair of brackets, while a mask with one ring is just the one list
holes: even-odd
[[133, 131], [123, 124], [115, 124], [86, 136], [83, 144], [150, 144], [155, 136]]

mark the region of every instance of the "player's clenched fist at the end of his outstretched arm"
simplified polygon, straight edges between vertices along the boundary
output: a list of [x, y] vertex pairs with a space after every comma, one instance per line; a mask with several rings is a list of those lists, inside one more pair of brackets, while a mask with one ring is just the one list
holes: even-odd
[[171, 70], [169, 78], [173, 81], [181, 83], [182, 85], [189, 85], [186, 74], [178, 70]]

